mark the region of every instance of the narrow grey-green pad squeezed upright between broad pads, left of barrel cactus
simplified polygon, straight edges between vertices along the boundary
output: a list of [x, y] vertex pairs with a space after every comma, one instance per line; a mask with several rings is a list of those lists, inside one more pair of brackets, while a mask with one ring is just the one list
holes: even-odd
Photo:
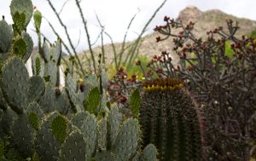
[[102, 118], [97, 122], [97, 142], [100, 149], [106, 149], [107, 147], [107, 118]]

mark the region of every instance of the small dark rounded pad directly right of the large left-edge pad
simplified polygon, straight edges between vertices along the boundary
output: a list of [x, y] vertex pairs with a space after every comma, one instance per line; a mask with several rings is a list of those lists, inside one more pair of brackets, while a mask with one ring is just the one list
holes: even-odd
[[44, 79], [39, 76], [33, 76], [29, 79], [29, 92], [28, 92], [28, 98], [29, 101], [39, 101], [41, 96], [44, 95], [45, 92], [45, 83]]

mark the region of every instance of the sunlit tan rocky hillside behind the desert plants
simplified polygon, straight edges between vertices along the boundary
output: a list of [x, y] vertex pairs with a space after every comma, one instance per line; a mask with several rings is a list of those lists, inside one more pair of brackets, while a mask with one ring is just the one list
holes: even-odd
[[[237, 32], [238, 37], [241, 37], [241, 35], [247, 35], [256, 28], [256, 21], [237, 18], [236, 16], [225, 14], [218, 9], [212, 9], [206, 12], [202, 12], [195, 7], [187, 7], [186, 9], [183, 9], [177, 17], [177, 20], [182, 20], [184, 24], [189, 23], [189, 21], [195, 22], [194, 33], [197, 37], [202, 38], [206, 37], [207, 31], [210, 31], [218, 26], [225, 27], [226, 20], [229, 19], [233, 20], [234, 22], [238, 22], [238, 25], [240, 26], [240, 30]], [[173, 33], [175, 32], [178, 31], [173, 30]], [[159, 55], [162, 50], [172, 52], [172, 38], [169, 38], [166, 41], [160, 43], [156, 43], [155, 37], [157, 37], [158, 35], [159, 34], [157, 32], [154, 32], [143, 37], [143, 44], [140, 48], [140, 55], [147, 55], [148, 57], [151, 57], [152, 55]], [[130, 43], [127, 43], [126, 46], [128, 46]], [[115, 43], [115, 46], [117, 48], [117, 51], [119, 51], [119, 49], [121, 48], [121, 43]], [[101, 47], [95, 48], [94, 51], [96, 54], [101, 53]], [[85, 51], [84, 53], [86, 55], [90, 55], [89, 51]], [[111, 44], [105, 45], [105, 53], [108, 54], [106, 55], [107, 62], [113, 60], [113, 49]], [[84, 60], [84, 55], [80, 56], [83, 57]], [[175, 55], [173, 56], [175, 57]]]

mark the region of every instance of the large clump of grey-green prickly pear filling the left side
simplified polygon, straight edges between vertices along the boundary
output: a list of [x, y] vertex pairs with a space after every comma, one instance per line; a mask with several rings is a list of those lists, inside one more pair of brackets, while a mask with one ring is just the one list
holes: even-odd
[[[0, 159], [157, 160], [154, 145], [140, 150], [137, 119], [107, 106], [104, 72], [100, 83], [94, 75], [76, 81], [67, 72], [66, 86], [60, 87], [60, 39], [50, 48], [46, 41], [39, 43], [32, 57], [33, 76], [28, 76], [25, 63], [33, 43], [26, 26], [32, 2], [13, 0], [10, 8], [14, 25], [0, 22]], [[34, 20], [40, 32], [38, 12]]]

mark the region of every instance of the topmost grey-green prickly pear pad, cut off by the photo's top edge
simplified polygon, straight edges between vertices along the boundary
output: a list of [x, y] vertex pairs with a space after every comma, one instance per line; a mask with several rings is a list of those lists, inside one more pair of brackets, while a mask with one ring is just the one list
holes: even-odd
[[9, 7], [10, 7], [13, 20], [15, 19], [16, 12], [20, 14], [21, 13], [25, 14], [26, 20], [25, 20], [24, 27], [26, 27], [32, 18], [32, 13], [33, 13], [32, 1], [31, 0], [12, 0]]

